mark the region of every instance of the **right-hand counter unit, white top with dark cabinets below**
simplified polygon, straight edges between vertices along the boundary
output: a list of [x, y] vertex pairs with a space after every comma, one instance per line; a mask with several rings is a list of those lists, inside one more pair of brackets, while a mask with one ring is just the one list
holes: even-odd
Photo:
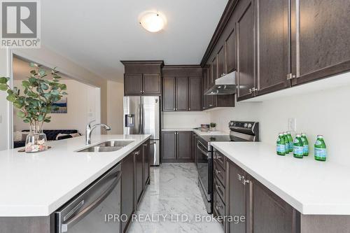
[[[247, 230], [349, 232], [349, 167], [332, 161], [318, 162], [313, 155], [303, 159], [293, 157], [293, 153], [279, 156], [276, 148], [267, 143], [211, 145], [216, 149], [214, 167], [220, 175], [216, 180], [224, 180], [225, 188], [220, 183], [216, 186], [216, 192], [224, 197], [223, 215], [235, 214], [239, 202], [244, 202], [246, 218], [252, 223]], [[223, 166], [217, 165], [221, 161]], [[231, 232], [236, 226], [225, 227]]]

